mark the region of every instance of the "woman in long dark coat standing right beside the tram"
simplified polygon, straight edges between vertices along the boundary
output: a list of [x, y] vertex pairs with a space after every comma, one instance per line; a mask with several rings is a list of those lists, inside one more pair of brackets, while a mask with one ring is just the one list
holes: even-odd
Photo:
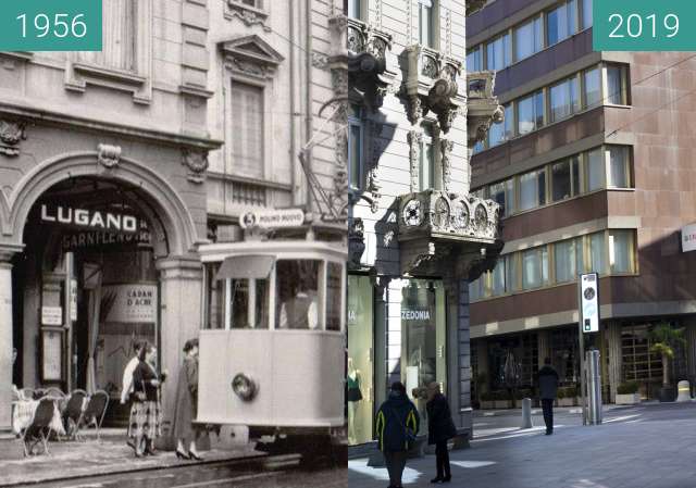
[[[176, 404], [174, 406], [174, 438], [177, 441], [178, 459], [201, 458], [196, 451], [196, 441], [200, 430], [194, 425], [198, 406], [198, 339], [187, 340], [184, 345], [184, 365], [178, 374]], [[188, 446], [188, 452], [184, 445]]]

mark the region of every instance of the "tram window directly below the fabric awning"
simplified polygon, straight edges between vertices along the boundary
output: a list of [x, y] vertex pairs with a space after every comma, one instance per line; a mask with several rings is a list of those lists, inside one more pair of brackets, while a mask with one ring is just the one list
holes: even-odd
[[231, 279], [231, 328], [268, 328], [268, 279]]

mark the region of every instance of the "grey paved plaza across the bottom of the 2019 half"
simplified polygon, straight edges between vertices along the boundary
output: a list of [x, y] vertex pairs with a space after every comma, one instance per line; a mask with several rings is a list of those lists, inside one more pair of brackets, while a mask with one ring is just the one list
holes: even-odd
[[[570, 410], [552, 436], [520, 430], [517, 415], [478, 416], [472, 447], [451, 452], [457, 488], [696, 488], [696, 405], [613, 409], [601, 426], [581, 425]], [[351, 488], [386, 488], [385, 468], [349, 461]], [[411, 460], [407, 488], [432, 487], [435, 456]]]

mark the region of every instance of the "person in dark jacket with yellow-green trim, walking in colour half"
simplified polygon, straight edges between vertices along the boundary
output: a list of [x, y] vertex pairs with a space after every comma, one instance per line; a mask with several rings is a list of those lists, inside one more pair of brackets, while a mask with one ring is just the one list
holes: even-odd
[[380, 450], [389, 472], [389, 488], [402, 488], [406, 458], [415, 440], [420, 422], [415, 405], [406, 396], [406, 387], [401, 381], [394, 383], [375, 422]]

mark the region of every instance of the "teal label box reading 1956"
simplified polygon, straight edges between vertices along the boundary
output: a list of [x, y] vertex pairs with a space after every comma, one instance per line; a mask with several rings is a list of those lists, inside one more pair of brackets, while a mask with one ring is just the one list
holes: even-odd
[[0, 0], [0, 51], [101, 51], [101, 0]]

